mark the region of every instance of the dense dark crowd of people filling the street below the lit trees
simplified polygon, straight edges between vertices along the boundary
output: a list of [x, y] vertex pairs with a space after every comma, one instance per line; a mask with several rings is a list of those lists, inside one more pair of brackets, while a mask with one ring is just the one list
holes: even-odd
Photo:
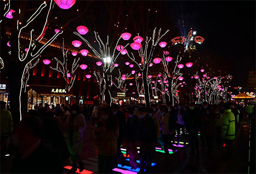
[[[64, 161], [70, 157], [70, 172], [77, 168], [81, 172], [83, 131], [89, 119], [98, 149], [98, 173], [112, 173], [117, 164], [124, 165], [121, 147], [127, 149], [132, 169], [140, 167], [139, 173], [150, 173], [155, 148], [161, 147], [168, 157], [170, 151], [177, 151], [180, 142], [189, 142], [191, 155], [199, 154], [200, 146], [206, 146], [209, 159], [214, 145], [222, 148], [225, 143], [224, 160], [229, 159], [237, 127], [247, 115], [255, 118], [255, 106], [250, 104], [241, 107], [234, 103], [195, 105], [190, 102], [146, 107], [145, 104], [83, 106], [75, 103], [43, 107], [40, 103], [13, 131], [12, 115], [5, 104], [1, 102], [1, 161], [9, 137], [9, 149], [15, 152], [13, 173], [61, 173]], [[139, 166], [136, 160], [140, 160]]]

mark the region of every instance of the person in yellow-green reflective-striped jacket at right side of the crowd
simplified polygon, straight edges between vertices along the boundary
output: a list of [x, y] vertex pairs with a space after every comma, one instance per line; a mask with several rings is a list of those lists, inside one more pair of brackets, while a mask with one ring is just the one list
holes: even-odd
[[221, 126], [221, 137], [224, 138], [226, 147], [226, 156], [224, 160], [229, 159], [233, 154], [232, 142], [236, 137], [235, 115], [231, 112], [230, 104], [225, 103], [223, 113], [223, 124]]

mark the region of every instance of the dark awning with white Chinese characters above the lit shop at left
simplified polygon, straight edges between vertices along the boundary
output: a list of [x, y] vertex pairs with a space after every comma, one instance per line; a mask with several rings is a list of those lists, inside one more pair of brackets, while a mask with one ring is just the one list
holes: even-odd
[[41, 96], [74, 96], [60, 86], [30, 85], [29, 87]]

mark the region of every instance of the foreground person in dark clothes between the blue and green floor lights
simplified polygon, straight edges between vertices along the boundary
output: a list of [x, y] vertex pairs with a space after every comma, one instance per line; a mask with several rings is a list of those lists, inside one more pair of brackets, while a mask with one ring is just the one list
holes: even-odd
[[[139, 134], [138, 139], [140, 143], [140, 171], [139, 173], [150, 173], [151, 164], [153, 160], [153, 152], [155, 150], [155, 143], [157, 141], [157, 130], [155, 120], [147, 115], [146, 108], [139, 108]], [[147, 161], [145, 166], [144, 161]]]

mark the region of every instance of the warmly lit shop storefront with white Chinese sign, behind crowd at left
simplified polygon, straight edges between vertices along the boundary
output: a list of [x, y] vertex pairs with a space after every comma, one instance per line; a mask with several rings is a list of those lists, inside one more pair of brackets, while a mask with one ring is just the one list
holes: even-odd
[[27, 109], [35, 109], [39, 103], [48, 105], [64, 104], [65, 106], [76, 101], [75, 96], [66, 92], [59, 86], [36, 86], [30, 85], [27, 93]]

